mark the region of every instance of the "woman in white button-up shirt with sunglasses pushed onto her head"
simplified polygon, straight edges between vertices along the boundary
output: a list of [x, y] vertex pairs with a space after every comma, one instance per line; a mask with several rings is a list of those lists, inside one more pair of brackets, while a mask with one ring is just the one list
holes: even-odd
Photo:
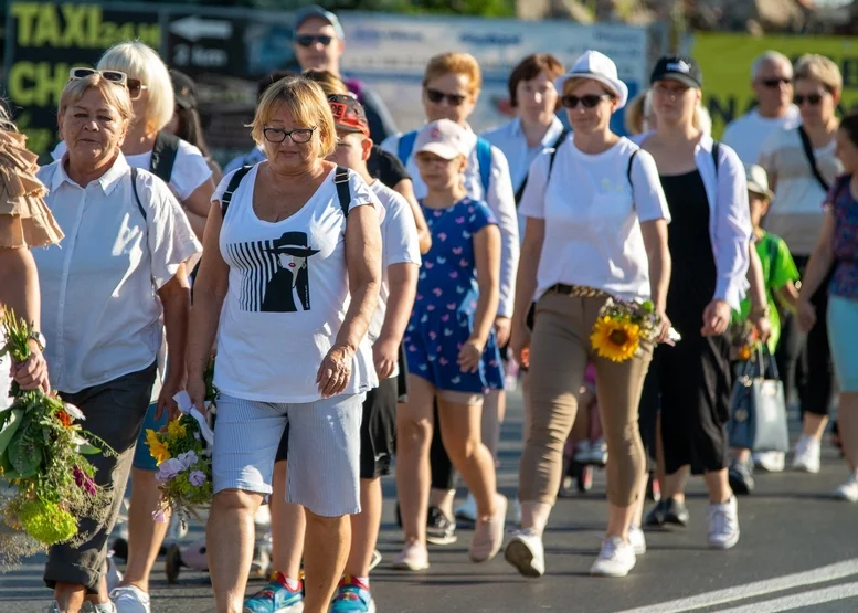
[[[50, 189], [47, 207], [66, 232], [59, 246], [33, 254], [52, 384], [81, 409], [86, 430], [117, 454], [91, 456], [96, 482], [113, 493], [104, 522], [82, 521], [82, 533], [92, 533], [85, 543], [49, 552], [44, 580], [56, 601], [51, 613], [149, 611], [147, 585], [134, 577], [108, 599], [107, 538], [152, 397], [165, 334], [169, 350], [184, 356], [187, 263], [201, 245], [169, 188], [126, 161], [120, 147], [133, 118], [124, 73], [73, 70], [59, 110], [66, 152], [39, 171]], [[172, 397], [183, 380], [182, 360], [171, 361], [157, 418], [176, 410]], [[146, 521], [153, 524], [150, 510], [144, 529]]]

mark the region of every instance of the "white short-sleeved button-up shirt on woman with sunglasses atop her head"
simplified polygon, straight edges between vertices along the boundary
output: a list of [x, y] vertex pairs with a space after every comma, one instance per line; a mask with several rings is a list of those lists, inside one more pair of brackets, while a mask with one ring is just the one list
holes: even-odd
[[64, 159], [39, 178], [65, 237], [33, 256], [51, 382], [73, 393], [155, 361], [163, 331], [156, 290], [202, 246], [170, 188], [138, 170], [144, 220], [121, 154], [86, 187], [68, 178]]

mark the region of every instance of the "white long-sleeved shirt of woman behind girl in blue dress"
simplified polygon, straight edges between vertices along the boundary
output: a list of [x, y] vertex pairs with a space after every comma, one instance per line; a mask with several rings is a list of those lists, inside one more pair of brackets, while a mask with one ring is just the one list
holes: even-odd
[[[516, 294], [516, 273], [518, 272], [518, 220], [516, 219], [516, 193], [512, 191], [512, 181], [509, 177], [509, 165], [504, 151], [491, 147], [491, 173], [488, 193], [483, 190], [479, 178], [479, 162], [477, 161], [477, 135], [468, 127], [473, 137], [468, 166], [465, 169], [465, 191], [474, 200], [488, 204], [500, 229], [500, 305], [498, 316], [512, 317]], [[399, 144], [402, 134], [388, 137], [381, 144], [381, 148], [394, 156], [399, 156]], [[426, 183], [420, 177], [414, 155], [409, 158], [405, 169], [414, 182], [414, 194], [422, 199], [426, 195]]]

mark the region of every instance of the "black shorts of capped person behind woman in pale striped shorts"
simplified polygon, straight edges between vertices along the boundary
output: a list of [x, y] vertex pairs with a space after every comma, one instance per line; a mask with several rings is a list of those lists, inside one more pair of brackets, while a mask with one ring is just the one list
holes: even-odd
[[[360, 424], [360, 478], [374, 479], [390, 474], [396, 445], [398, 378], [379, 381], [367, 392]], [[288, 458], [289, 424], [283, 431], [275, 462]]]

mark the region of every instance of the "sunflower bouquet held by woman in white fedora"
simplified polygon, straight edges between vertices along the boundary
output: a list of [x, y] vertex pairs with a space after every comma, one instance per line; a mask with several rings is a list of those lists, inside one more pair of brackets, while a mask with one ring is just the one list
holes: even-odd
[[[660, 324], [661, 318], [652, 300], [638, 303], [608, 298], [599, 311], [590, 342], [600, 357], [624, 362], [635, 357], [642, 340], [656, 339]], [[679, 338], [671, 328], [670, 340]]]

